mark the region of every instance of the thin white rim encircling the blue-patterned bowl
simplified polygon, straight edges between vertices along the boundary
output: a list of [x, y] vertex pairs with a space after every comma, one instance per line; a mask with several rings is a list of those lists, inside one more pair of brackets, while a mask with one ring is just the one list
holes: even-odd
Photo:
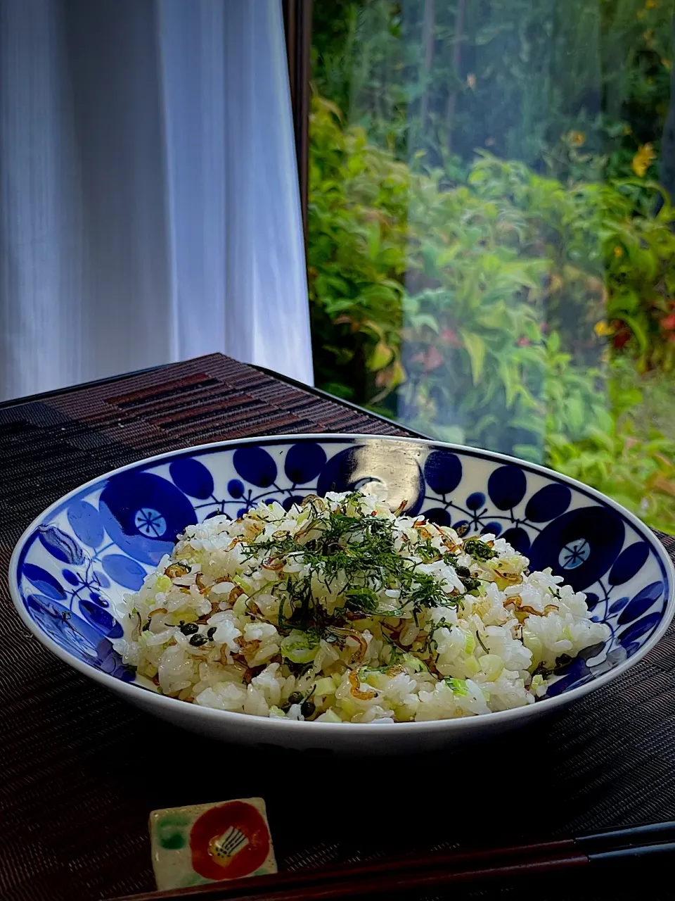
[[[204, 723], [211, 722], [214, 725], [218, 723], [222, 725], [229, 724], [229, 728], [231, 728], [233, 732], [237, 729], [238, 725], [242, 726], [246, 722], [249, 726], [261, 725], [266, 728], [284, 730], [286, 733], [297, 734], [298, 730], [308, 729], [309, 724], [305, 724], [300, 720], [287, 720], [282, 719], [281, 717], [270, 718], [264, 716], [252, 716], [251, 714], [237, 713], [229, 710], [217, 710], [202, 705], [185, 704], [184, 701], [181, 701], [178, 698], [159, 695], [133, 682], [124, 682], [119, 678], [114, 678], [112, 675], [103, 672], [101, 669], [95, 669], [94, 667], [89, 666], [61, 648], [49, 637], [49, 635], [42, 632], [38, 624], [31, 619], [31, 616], [28, 614], [28, 611], [23, 604], [21, 591], [19, 589], [19, 580], [17, 578], [18, 564], [22, 556], [24, 545], [40, 523], [45, 519], [48, 519], [58, 510], [58, 508], [67, 505], [67, 502], [74, 496], [84, 492], [88, 488], [94, 487], [97, 483], [102, 482], [105, 479], [112, 478], [112, 476], [130, 469], [142, 469], [147, 468], [148, 466], [154, 466], [162, 460], [169, 458], [175, 459], [176, 457], [181, 456], [193, 457], [199, 453], [215, 452], [220, 449], [227, 450], [228, 448], [238, 447], [242, 444], [293, 444], [299, 443], [300, 441], [403, 441], [407, 444], [419, 445], [422, 447], [429, 447], [431, 445], [434, 449], [441, 448], [443, 450], [464, 454], [464, 456], [516, 464], [528, 471], [544, 475], [546, 478], [554, 479], [554, 481], [558, 481], [563, 485], [568, 485], [577, 492], [600, 501], [602, 504], [608, 505], [617, 511], [617, 513], [621, 514], [628, 523], [635, 528], [635, 531], [641, 535], [644, 541], [649, 544], [661, 563], [664, 575], [667, 577], [669, 595], [661, 623], [659, 623], [658, 628], [653, 632], [649, 640], [644, 642], [644, 646], [640, 648], [639, 651], [636, 651], [632, 657], [627, 658], [616, 667], [591, 679], [589, 682], [584, 683], [584, 685], [572, 688], [569, 691], [564, 691], [560, 695], [554, 697], [544, 696], [535, 704], [528, 704], [524, 707], [514, 707], [510, 710], [500, 710], [491, 714], [457, 717], [449, 720], [423, 720], [419, 723], [414, 721], [410, 723], [392, 723], [392, 727], [395, 727], [396, 733], [420, 733], [422, 731], [437, 733], [453, 729], [473, 732], [475, 730], [486, 728], [487, 724], [490, 723], [494, 724], [495, 728], [499, 728], [500, 724], [506, 728], [508, 724], [513, 721], [522, 719], [524, 722], [527, 722], [528, 719], [531, 719], [537, 714], [542, 714], [545, 711], [553, 712], [556, 707], [560, 708], [566, 706], [572, 701], [590, 694], [591, 691], [595, 691], [596, 688], [607, 685], [608, 682], [613, 681], [622, 673], [625, 673], [627, 669], [635, 666], [635, 664], [642, 660], [644, 656], [653, 649], [657, 642], [661, 640], [663, 634], [671, 624], [671, 620], [675, 614], [675, 567], [673, 566], [672, 560], [662, 543], [653, 533], [652, 529], [645, 525], [637, 516], [635, 516], [635, 514], [632, 514], [627, 510], [626, 507], [618, 504], [617, 501], [603, 495], [596, 488], [584, 485], [576, 478], [555, 472], [554, 469], [549, 469], [539, 463], [530, 463], [528, 460], [520, 460], [518, 457], [512, 457], [509, 454], [503, 454], [499, 451], [487, 451], [482, 448], [468, 447], [464, 444], [454, 444], [449, 441], [436, 441], [431, 438], [409, 438], [405, 435], [376, 435], [366, 434], [364, 432], [300, 432], [297, 434], [256, 435], [249, 438], [210, 441], [205, 444], [197, 444], [192, 447], [180, 448], [175, 451], [165, 451], [164, 453], [146, 457], [142, 460], [136, 460], [125, 466], [104, 472], [100, 476], [95, 476], [94, 478], [89, 479], [89, 481], [84, 482], [82, 485], [73, 488], [65, 495], [58, 497], [53, 504], [47, 506], [38, 516], [36, 516], [27, 528], [23, 530], [19, 540], [14, 546], [14, 551], [12, 552], [9, 563], [9, 587], [14, 606], [21, 617], [23, 624], [38, 639], [40, 644], [43, 644], [49, 651], [58, 657], [59, 660], [63, 660], [67, 663], [68, 666], [76, 669], [83, 675], [94, 679], [95, 682], [100, 683], [103, 687], [110, 688], [117, 694], [129, 699], [131, 703], [134, 703], [134, 698], [139, 697], [139, 692], [143, 692], [148, 700], [148, 705], [156, 704], [160, 709], [166, 711], [166, 718], [171, 718], [172, 712], [178, 714], [180, 710], [183, 710], [187, 720], [201, 719]], [[350, 732], [354, 729], [364, 738], [369, 734], [382, 734], [382, 724], [379, 723], [311, 723], [311, 730], [302, 732], [302, 735], [304, 738], [309, 739], [311, 735], [319, 736], [319, 734], [323, 734], [328, 736], [330, 733], [335, 735], [335, 730], [340, 730], [341, 735], [346, 735], [344, 732], [346, 726], [351, 727], [349, 730]]]

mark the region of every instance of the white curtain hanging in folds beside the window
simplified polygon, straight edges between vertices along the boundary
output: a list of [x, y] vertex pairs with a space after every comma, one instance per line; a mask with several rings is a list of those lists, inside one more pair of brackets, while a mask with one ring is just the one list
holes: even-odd
[[280, 0], [0, 0], [0, 398], [221, 350], [311, 383]]

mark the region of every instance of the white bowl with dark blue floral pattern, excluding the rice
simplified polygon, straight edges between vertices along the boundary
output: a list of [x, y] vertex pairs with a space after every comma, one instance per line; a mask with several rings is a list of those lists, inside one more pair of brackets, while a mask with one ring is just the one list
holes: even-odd
[[[535, 705], [429, 723], [297, 723], [185, 704], [134, 685], [111, 640], [125, 592], [190, 523], [237, 517], [260, 500], [377, 484], [392, 508], [494, 532], [584, 591], [611, 637], [559, 674]], [[62, 497], [23, 533], [10, 586], [23, 622], [61, 660], [148, 713], [213, 737], [338, 751], [409, 751], [494, 733], [552, 711], [624, 672], [659, 641], [675, 610], [675, 574], [633, 514], [549, 469], [490, 451], [367, 435], [223, 441], [116, 469]]]

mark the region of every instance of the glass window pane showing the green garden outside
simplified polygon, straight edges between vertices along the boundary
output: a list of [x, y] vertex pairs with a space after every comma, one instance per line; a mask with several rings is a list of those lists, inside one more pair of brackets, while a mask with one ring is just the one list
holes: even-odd
[[675, 532], [672, 59], [673, 0], [315, 4], [320, 387]]

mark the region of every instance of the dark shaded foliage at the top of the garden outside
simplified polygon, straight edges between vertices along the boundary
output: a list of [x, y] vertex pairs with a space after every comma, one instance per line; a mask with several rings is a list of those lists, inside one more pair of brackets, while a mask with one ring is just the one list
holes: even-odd
[[[378, 146], [435, 165], [476, 148], [567, 182], [658, 175], [673, 0], [330, 0], [313, 77]], [[672, 186], [667, 186], [670, 190]]]

